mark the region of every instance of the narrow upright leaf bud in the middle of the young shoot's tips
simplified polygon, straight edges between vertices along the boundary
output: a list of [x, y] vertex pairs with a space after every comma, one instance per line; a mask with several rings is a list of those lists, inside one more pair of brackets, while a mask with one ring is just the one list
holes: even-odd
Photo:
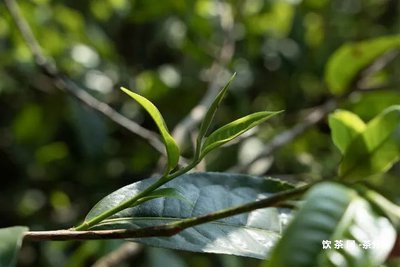
[[[215, 113], [217, 112], [217, 109], [218, 109], [219, 105], [221, 104], [222, 99], [224, 98], [231, 82], [235, 79], [235, 77], [236, 77], [236, 72], [232, 75], [232, 77], [229, 79], [228, 83], [219, 92], [219, 94], [217, 95], [217, 97], [214, 99], [213, 103], [209, 107], [206, 115], [204, 116], [204, 119], [200, 126], [199, 135], [197, 136], [197, 144], [196, 144], [196, 152], [197, 153], [200, 153], [200, 148], [201, 148], [203, 138], [207, 134], [207, 130], [210, 127], [212, 120], [214, 119]], [[198, 156], [199, 156], [199, 154], [198, 154]]]

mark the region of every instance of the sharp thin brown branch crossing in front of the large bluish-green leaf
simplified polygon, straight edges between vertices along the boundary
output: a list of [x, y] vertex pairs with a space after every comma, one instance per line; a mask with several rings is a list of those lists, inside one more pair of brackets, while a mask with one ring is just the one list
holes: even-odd
[[73, 230], [56, 230], [56, 231], [29, 231], [24, 235], [25, 241], [62, 241], [62, 240], [99, 240], [99, 239], [123, 239], [123, 238], [139, 238], [154, 236], [172, 236], [179, 232], [199, 224], [220, 220], [226, 217], [250, 212], [256, 209], [281, 206], [285, 201], [302, 195], [312, 184], [298, 187], [277, 193], [271, 197], [250, 202], [244, 205], [220, 210], [199, 217], [192, 217], [177, 222], [164, 225], [151, 226], [139, 229], [116, 229], [116, 230], [94, 230], [94, 231], [73, 231]]

